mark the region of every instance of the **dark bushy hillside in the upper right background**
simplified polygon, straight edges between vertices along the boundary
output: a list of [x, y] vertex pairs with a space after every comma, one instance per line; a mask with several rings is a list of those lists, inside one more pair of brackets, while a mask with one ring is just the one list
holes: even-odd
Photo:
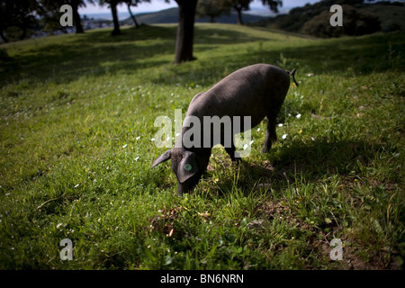
[[[402, 3], [361, 4], [361, 0], [324, 0], [297, 7], [289, 14], [254, 23], [283, 31], [292, 31], [316, 37], [364, 35], [376, 31], [405, 31], [405, 6]], [[343, 7], [343, 27], [331, 27], [329, 8], [332, 4]]]

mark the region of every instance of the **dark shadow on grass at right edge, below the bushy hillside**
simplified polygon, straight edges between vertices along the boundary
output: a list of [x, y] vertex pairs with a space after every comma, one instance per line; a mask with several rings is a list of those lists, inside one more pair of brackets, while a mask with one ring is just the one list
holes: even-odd
[[[403, 33], [374, 34], [367, 37], [331, 39], [311, 48], [285, 49], [284, 57], [299, 62], [318, 74], [353, 72], [371, 74], [403, 69]], [[342, 65], [347, 63], [348, 65]]]

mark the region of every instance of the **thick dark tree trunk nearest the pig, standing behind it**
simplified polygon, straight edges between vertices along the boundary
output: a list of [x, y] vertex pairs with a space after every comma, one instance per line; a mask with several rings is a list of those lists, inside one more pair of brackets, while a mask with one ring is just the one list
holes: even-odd
[[193, 33], [194, 15], [198, 0], [175, 0], [178, 4], [177, 38], [175, 40], [175, 61], [180, 64], [192, 61], [193, 57]]

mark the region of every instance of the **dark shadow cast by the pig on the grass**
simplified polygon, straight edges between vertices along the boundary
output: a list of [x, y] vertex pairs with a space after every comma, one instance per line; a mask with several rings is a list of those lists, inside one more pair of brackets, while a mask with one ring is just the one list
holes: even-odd
[[[367, 166], [375, 154], [384, 149], [382, 144], [361, 140], [319, 139], [311, 144], [297, 140], [280, 148], [277, 155], [270, 152], [268, 160], [263, 163], [248, 159], [241, 162], [236, 186], [247, 194], [252, 189], [258, 189], [258, 184], [265, 184], [276, 193], [283, 193], [285, 188], [296, 181], [313, 183], [331, 175], [360, 175], [361, 167]], [[208, 175], [207, 179], [210, 177]], [[234, 185], [233, 177], [222, 178], [216, 183], [218, 191], [223, 195], [229, 193]]]

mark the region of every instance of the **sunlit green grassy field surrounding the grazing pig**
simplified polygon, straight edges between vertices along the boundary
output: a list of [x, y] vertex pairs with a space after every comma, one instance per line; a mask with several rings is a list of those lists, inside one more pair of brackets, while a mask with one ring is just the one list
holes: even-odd
[[[404, 257], [405, 34], [314, 40], [197, 24], [172, 65], [175, 26], [0, 47], [0, 268], [398, 269]], [[176, 195], [157, 116], [250, 64], [297, 69], [279, 140], [233, 165], [215, 148]], [[73, 260], [59, 257], [62, 239]], [[343, 260], [329, 257], [340, 238]]]

